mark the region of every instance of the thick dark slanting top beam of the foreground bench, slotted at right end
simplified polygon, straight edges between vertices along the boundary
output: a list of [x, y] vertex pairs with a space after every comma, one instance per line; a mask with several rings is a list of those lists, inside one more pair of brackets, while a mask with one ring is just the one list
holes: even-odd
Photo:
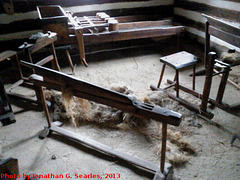
[[[56, 86], [67, 87], [75, 96], [121, 109], [137, 117], [155, 119], [175, 126], [178, 126], [181, 122], [181, 114], [171, 110], [136, 101], [127, 95], [104, 89], [55, 70], [23, 61], [21, 61], [21, 64], [34, 68], [36, 73], [42, 75], [44, 81], [41, 83], [44, 85], [44, 82], [47, 82], [45, 86], [52, 83]], [[32, 79], [34, 77], [30, 80]]]

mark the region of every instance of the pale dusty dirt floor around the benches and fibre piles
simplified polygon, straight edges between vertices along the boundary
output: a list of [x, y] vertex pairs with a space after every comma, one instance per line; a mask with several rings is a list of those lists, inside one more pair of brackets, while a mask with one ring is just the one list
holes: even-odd
[[[186, 51], [202, 56], [202, 52], [195, 46], [185, 47]], [[177, 52], [176, 49], [164, 48], [139, 48], [104, 52], [87, 56], [89, 67], [85, 68], [79, 63], [76, 65], [75, 77], [91, 83], [110, 87], [111, 84], [124, 84], [137, 93], [149, 91], [150, 85], [156, 85], [162, 64], [159, 57]], [[77, 62], [78, 60], [75, 59]], [[199, 64], [198, 69], [201, 69]], [[70, 73], [69, 67], [62, 68], [65, 73]], [[187, 76], [191, 69], [180, 72], [180, 80], [191, 87], [191, 77]], [[232, 72], [233, 78], [239, 74], [239, 69]], [[173, 78], [174, 71], [166, 68], [164, 83], [167, 78]], [[220, 78], [214, 77], [211, 97], [215, 97]], [[165, 86], [166, 84], [162, 84]], [[201, 92], [204, 76], [198, 76], [196, 89]], [[26, 92], [23, 89], [14, 91]], [[31, 94], [32, 92], [27, 92]], [[227, 86], [224, 101], [229, 104], [240, 101], [239, 90]], [[183, 95], [182, 92], [180, 96]], [[15, 112], [20, 107], [13, 106]], [[212, 123], [206, 122], [195, 115], [183, 119], [180, 127], [171, 131], [179, 131], [181, 138], [188, 142], [196, 151], [195, 155], [188, 156], [186, 163], [178, 164], [174, 168], [174, 179], [182, 180], [237, 180], [240, 179], [240, 141], [230, 146], [233, 134], [240, 134], [239, 114], [229, 114], [219, 108], [212, 111], [215, 116]], [[186, 111], [187, 112], [187, 111]], [[0, 127], [0, 155], [2, 158], [14, 157], [19, 161], [20, 172], [37, 174], [70, 174], [72, 179], [75, 174], [100, 175], [115, 174], [120, 178], [110, 179], [151, 179], [135, 168], [128, 168], [126, 164], [113, 158], [96, 153], [86, 147], [73, 143], [61, 136], [53, 134], [51, 137], [40, 140], [39, 133], [46, 126], [47, 121], [43, 112], [25, 111], [15, 115], [17, 122]], [[66, 126], [84, 137], [96, 140], [119, 151], [141, 159], [159, 164], [160, 155], [156, 153], [160, 141], [134, 131], [114, 129], [98, 126], [96, 124], [83, 124], [78, 128]], [[2, 152], [1, 152], [2, 151]], [[54, 179], [54, 178], [52, 178]], [[60, 179], [60, 178], [55, 178]], [[67, 178], [63, 178], [67, 179]], [[94, 178], [88, 178], [94, 179]], [[104, 178], [103, 178], [104, 179]]]

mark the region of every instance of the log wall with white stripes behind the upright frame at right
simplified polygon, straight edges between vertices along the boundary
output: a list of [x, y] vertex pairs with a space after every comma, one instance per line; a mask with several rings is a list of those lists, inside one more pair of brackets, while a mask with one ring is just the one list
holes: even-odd
[[[185, 25], [191, 37], [204, 42], [205, 21], [202, 13], [233, 22], [240, 27], [240, 0], [175, 0], [175, 21]], [[235, 48], [217, 38], [211, 37], [212, 44]]]

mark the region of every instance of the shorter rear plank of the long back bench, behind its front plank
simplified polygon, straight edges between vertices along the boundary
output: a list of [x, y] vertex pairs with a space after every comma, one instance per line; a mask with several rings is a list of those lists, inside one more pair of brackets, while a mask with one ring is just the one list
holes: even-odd
[[159, 27], [163, 25], [171, 25], [171, 20], [160, 20], [160, 21], [143, 21], [143, 22], [130, 22], [130, 23], [119, 23], [119, 30], [134, 29], [134, 28], [148, 28], [148, 27]]

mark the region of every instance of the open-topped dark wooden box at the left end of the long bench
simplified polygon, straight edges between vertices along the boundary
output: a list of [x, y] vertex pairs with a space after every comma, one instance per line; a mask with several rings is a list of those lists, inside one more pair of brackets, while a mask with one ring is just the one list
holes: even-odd
[[56, 32], [58, 37], [68, 38], [68, 18], [61, 6], [37, 6], [43, 32]]

